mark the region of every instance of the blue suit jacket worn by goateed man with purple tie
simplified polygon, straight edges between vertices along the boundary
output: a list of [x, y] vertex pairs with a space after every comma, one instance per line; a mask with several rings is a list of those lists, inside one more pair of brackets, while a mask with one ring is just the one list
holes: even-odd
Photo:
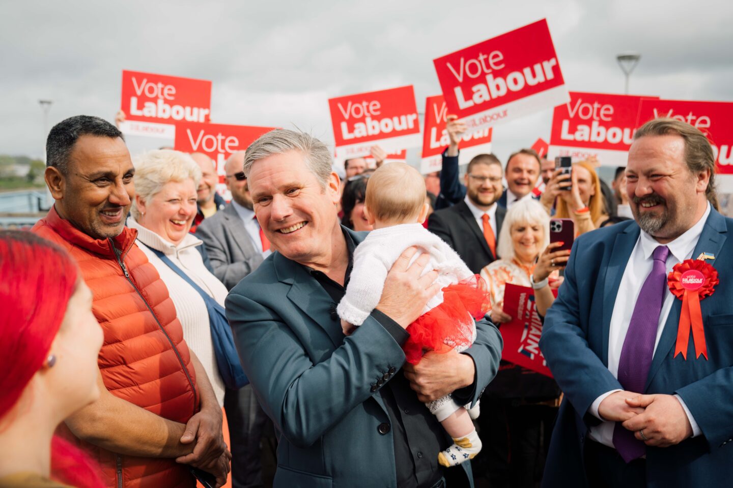
[[[679, 394], [702, 434], [677, 446], [647, 447], [648, 487], [723, 487], [733, 479], [733, 219], [714, 209], [693, 252], [710, 252], [721, 282], [701, 301], [709, 359], [695, 359], [690, 339], [688, 359], [674, 358], [682, 307], [674, 300], [662, 333], [644, 394]], [[580, 236], [573, 244], [565, 281], [550, 307], [539, 341], [565, 400], [550, 443], [545, 487], [584, 487], [583, 443], [598, 420], [587, 414], [592, 402], [621, 388], [608, 371], [611, 314], [640, 229], [622, 222]], [[732, 234], [733, 235], [733, 234]], [[621, 293], [624, 293], [621, 291]], [[632, 303], [629, 303], [633, 307]], [[592, 442], [592, 441], [589, 441]]]

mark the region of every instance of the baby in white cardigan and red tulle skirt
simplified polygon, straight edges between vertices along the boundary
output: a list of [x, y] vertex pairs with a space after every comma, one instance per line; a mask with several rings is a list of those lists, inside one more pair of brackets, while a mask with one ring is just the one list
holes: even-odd
[[[481, 277], [471, 273], [456, 252], [422, 226], [427, 217], [425, 182], [417, 170], [401, 162], [391, 162], [375, 171], [367, 183], [364, 214], [375, 230], [354, 251], [353, 270], [346, 294], [336, 311], [345, 334], [361, 326], [382, 296], [389, 269], [408, 247], [418, 247], [413, 260], [427, 252], [430, 261], [422, 274], [435, 269], [438, 292], [408, 326], [410, 333], [403, 349], [407, 361], [416, 364], [428, 350], [461, 352], [476, 339], [474, 318], [483, 318], [490, 309], [489, 295]], [[471, 418], [479, 405], [468, 412], [451, 395], [426, 403], [454, 444], [438, 454], [443, 466], [459, 465], [481, 450], [481, 440]], [[467, 405], [468, 407], [468, 405]]]

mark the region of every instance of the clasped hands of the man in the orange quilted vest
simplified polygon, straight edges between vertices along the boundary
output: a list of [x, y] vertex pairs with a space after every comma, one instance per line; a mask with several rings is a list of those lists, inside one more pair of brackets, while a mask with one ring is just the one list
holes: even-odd
[[176, 462], [213, 474], [216, 477], [217, 487], [226, 483], [226, 475], [230, 470], [229, 462], [232, 460], [232, 453], [224, 443], [221, 424], [221, 409], [218, 405], [211, 408], [202, 407], [199, 413], [188, 420], [180, 438], [182, 444], [195, 441], [194, 451], [176, 459]]

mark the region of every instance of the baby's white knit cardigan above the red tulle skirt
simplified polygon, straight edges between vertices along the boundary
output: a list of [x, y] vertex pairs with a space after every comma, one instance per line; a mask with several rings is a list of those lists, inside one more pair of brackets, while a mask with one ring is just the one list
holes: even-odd
[[[353, 269], [346, 294], [336, 307], [339, 317], [355, 326], [361, 326], [382, 296], [384, 280], [399, 255], [408, 247], [419, 248], [412, 261], [423, 252], [430, 253], [430, 261], [421, 274], [438, 271], [441, 289], [462, 279], [474, 276], [457, 253], [434, 233], [421, 224], [401, 224], [372, 230], [356, 247]], [[410, 261], [410, 264], [412, 263]], [[432, 297], [423, 313], [443, 303], [443, 293]]]

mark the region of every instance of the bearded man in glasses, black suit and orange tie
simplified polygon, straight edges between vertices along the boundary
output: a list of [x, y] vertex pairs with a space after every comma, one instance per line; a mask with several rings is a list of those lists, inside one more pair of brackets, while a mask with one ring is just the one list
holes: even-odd
[[430, 215], [427, 228], [446, 241], [478, 274], [496, 260], [496, 242], [507, 210], [501, 198], [501, 162], [493, 154], [479, 154], [468, 163], [463, 201]]

